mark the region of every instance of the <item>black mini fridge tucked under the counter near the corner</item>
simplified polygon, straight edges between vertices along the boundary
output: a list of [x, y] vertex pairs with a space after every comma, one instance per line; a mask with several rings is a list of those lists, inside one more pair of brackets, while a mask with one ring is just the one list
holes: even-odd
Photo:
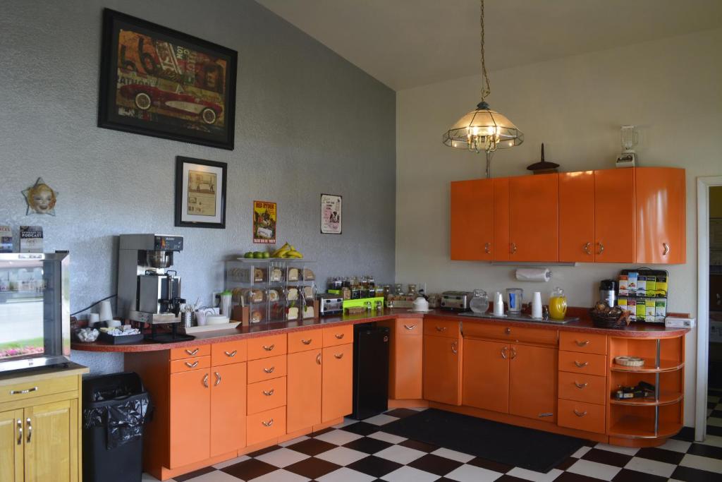
[[354, 326], [352, 418], [363, 420], [388, 410], [388, 328]]

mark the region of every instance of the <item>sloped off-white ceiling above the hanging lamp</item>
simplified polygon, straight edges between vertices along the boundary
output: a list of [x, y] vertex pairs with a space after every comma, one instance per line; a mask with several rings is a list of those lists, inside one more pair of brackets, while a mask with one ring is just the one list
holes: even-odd
[[[256, 1], [394, 90], [479, 73], [477, 0]], [[722, 0], [487, 0], [485, 9], [490, 71], [722, 27]]]

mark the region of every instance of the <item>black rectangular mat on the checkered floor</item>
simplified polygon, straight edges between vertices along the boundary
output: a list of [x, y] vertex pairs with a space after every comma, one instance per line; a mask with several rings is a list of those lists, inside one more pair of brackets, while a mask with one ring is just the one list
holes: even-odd
[[547, 473], [585, 441], [430, 408], [386, 423], [381, 431], [514, 467]]

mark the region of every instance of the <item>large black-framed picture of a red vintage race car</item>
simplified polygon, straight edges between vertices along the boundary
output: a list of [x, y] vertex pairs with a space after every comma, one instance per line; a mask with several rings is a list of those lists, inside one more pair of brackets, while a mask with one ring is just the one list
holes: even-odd
[[99, 127], [233, 149], [238, 53], [103, 11]]

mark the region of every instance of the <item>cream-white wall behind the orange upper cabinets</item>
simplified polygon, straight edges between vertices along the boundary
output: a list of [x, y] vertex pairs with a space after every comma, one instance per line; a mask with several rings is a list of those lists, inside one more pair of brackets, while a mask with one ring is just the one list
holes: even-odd
[[[492, 176], [516, 176], [539, 160], [561, 171], [614, 168], [619, 126], [639, 126], [640, 165], [687, 169], [687, 264], [669, 266], [672, 311], [696, 311], [695, 178], [722, 174], [722, 29], [492, 72], [492, 108], [525, 134], [499, 151]], [[510, 55], [513, 55], [510, 52]], [[470, 62], [477, 59], [469, 59]], [[493, 66], [490, 66], [493, 69]], [[483, 155], [452, 150], [441, 135], [478, 102], [479, 77], [397, 92], [396, 280], [429, 292], [554, 286], [573, 306], [591, 306], [599, 280], [627, 264], [552, 267], [550, 283], [519, 283], [513, 267], [449, 259], [449, 181], [484, 176]], [[687, 337], [685, 424], [693, 425], [696, 333]]]

